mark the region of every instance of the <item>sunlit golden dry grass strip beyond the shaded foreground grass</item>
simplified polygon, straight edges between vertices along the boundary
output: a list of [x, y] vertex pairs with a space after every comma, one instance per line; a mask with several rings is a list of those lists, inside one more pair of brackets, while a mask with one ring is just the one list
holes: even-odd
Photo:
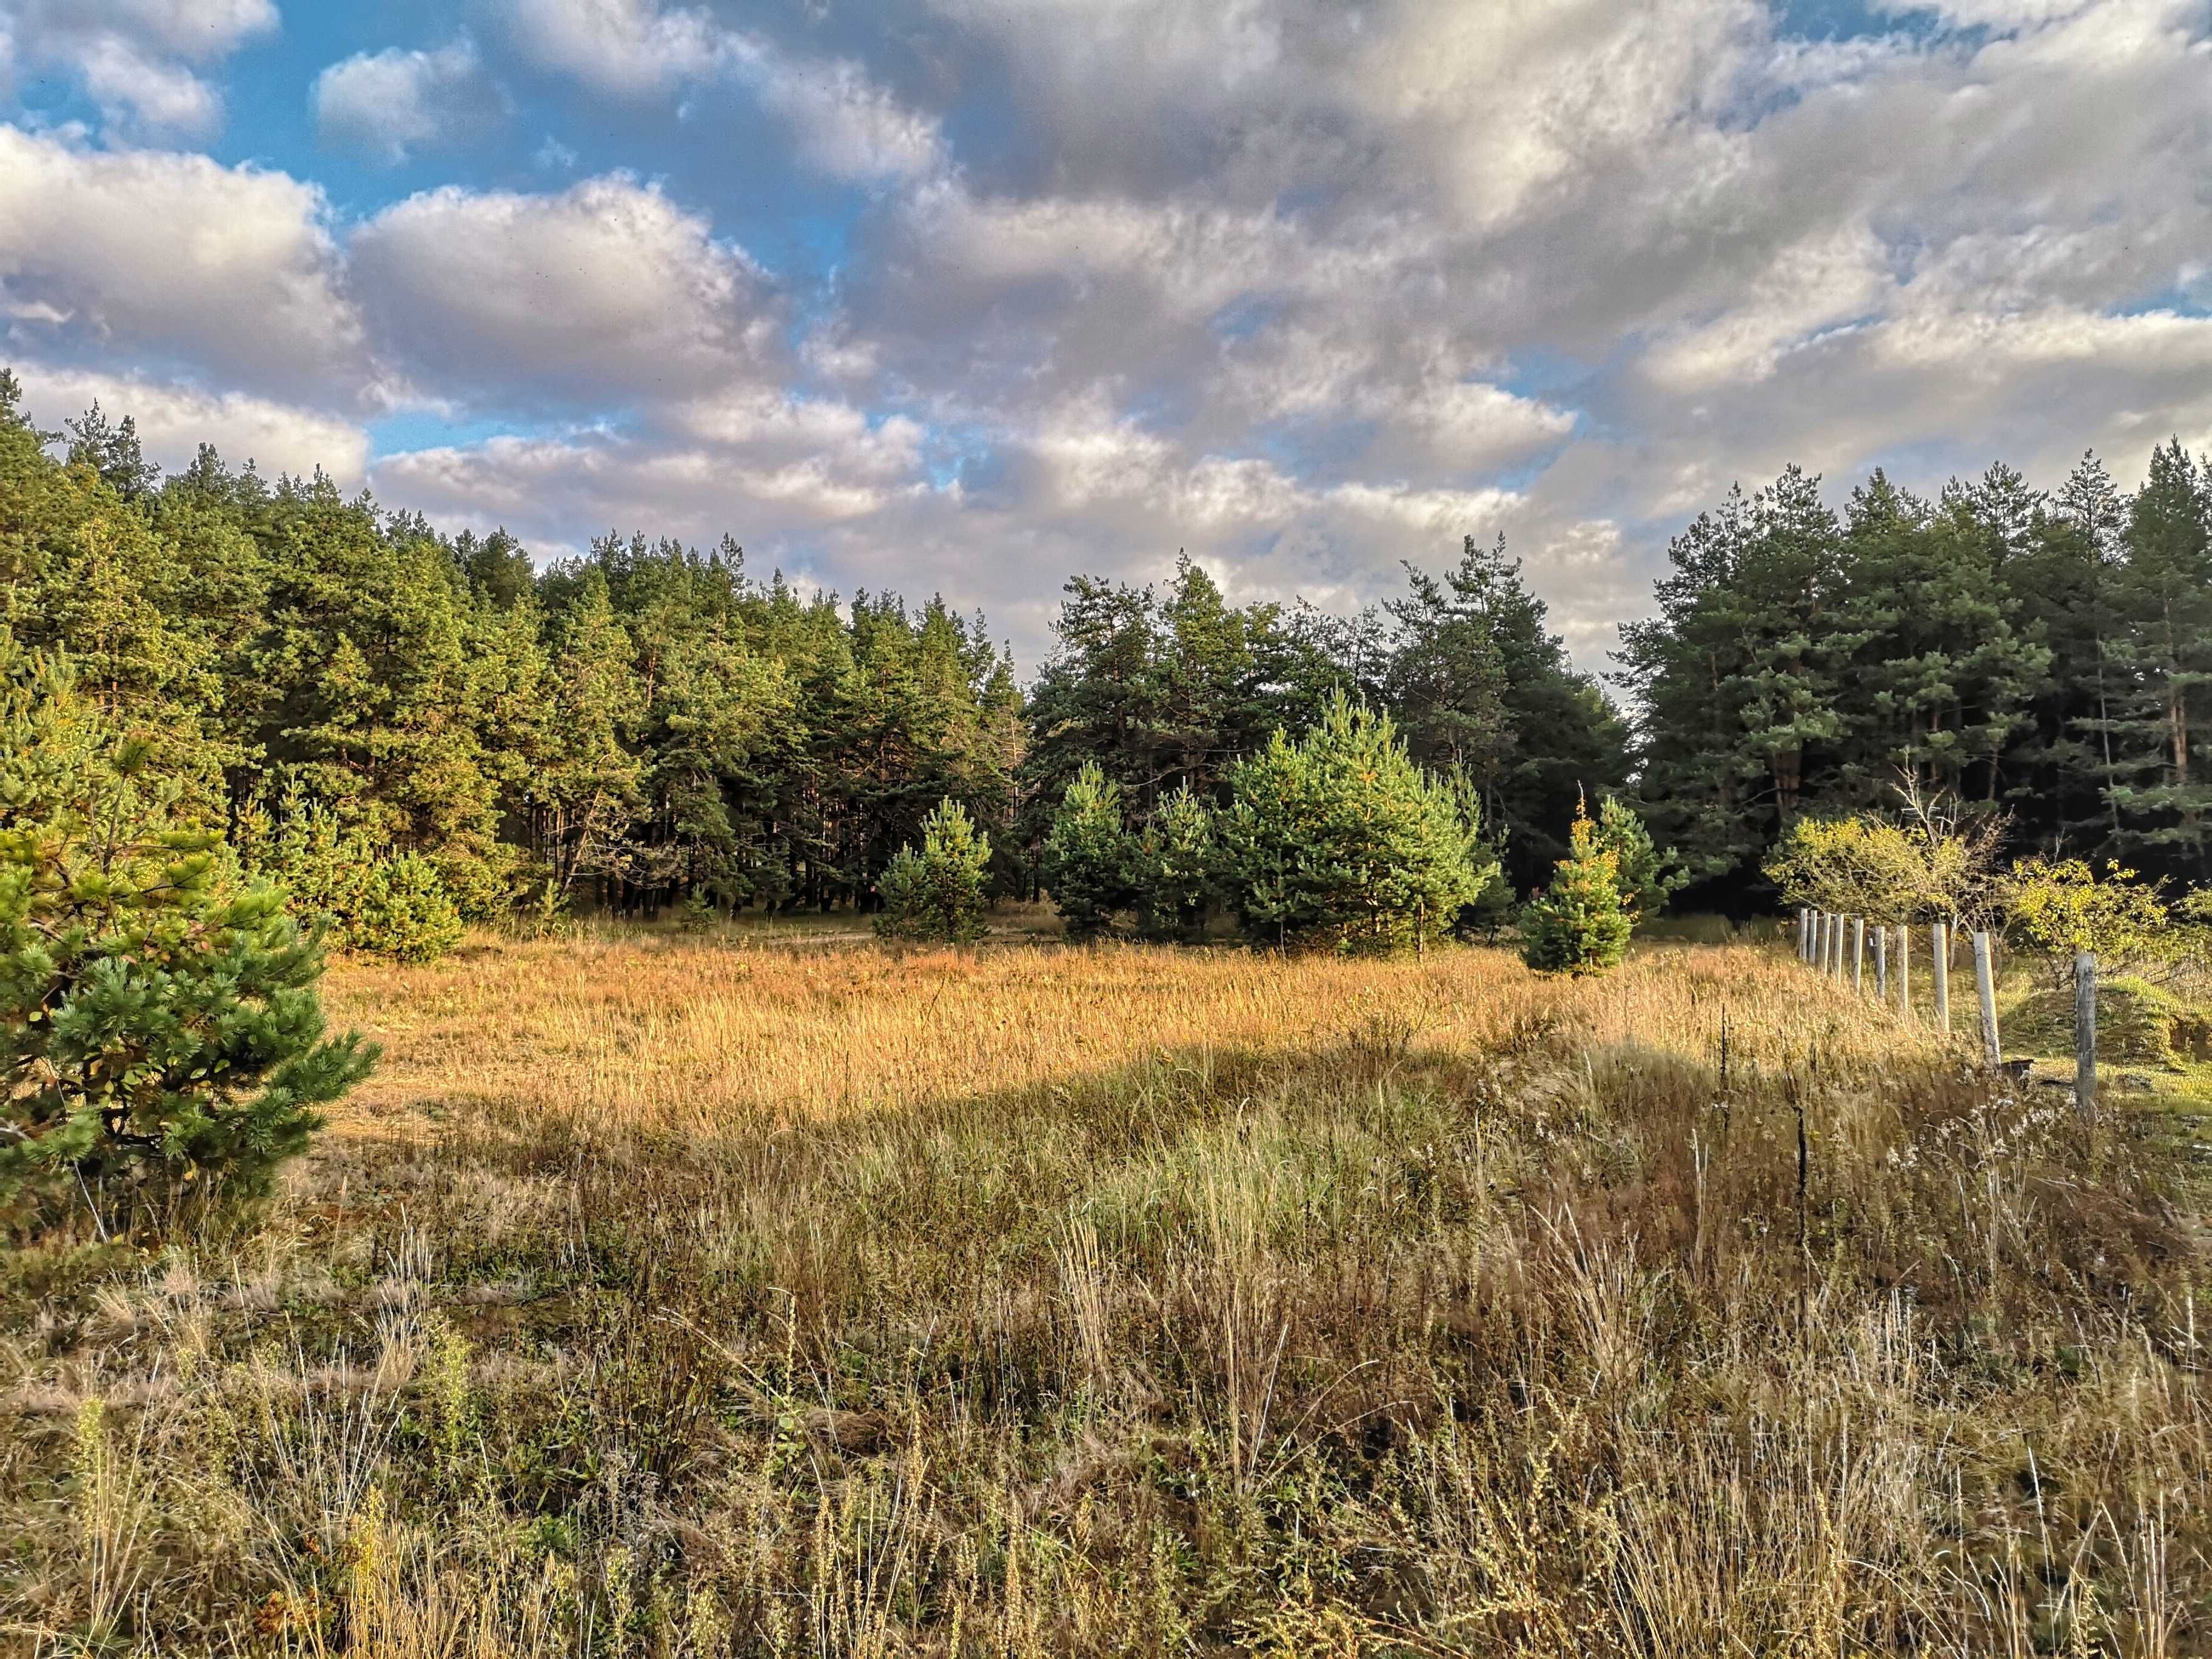
[[332, 971], [334, 1024], [385, 1044], [347, 1121], [498, 1104], [593, 1130], [721, 1135], [1040, 1095], [1159, 1055], [1298, 1053], [1418, 1035], [1475, 1055], [1535, 1026], [1597, 1046], [1865, 1066], [1924, 1035], [1752, 951], [1652, 949], [1584, 984], [1506, 951], [1276, 958], [1135, 945], [887, 951], [737, 933], [478, 945], [431, 967]]

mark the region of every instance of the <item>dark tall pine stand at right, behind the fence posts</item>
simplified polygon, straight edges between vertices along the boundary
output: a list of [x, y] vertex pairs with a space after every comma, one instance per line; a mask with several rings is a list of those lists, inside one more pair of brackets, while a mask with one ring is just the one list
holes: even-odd
[[1949, 796], [2022, 852], [2212, 876], [2212, 473], [2179, 440], [2124, 495], [2011, 467], [1843, 513], [1798, 469], [1674, 538], [1621, 628], [1637, 776], [1690, 902], [1765, 896], [1798, 818]]

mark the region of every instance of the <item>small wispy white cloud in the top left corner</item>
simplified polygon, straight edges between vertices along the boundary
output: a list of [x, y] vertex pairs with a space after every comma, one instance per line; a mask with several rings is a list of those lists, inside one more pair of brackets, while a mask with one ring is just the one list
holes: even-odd
[[111, 128], [206, 137], [221, 93], [195, 73], [274, 33], [272, 0], [13, 0], [0, 18], [0, 71], [75, 75]]

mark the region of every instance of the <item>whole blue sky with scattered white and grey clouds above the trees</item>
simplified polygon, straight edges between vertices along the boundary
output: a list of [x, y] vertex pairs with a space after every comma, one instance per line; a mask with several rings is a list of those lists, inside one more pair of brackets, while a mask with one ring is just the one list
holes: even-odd
[[1349, 608], [2212, 447], [2212, 0], [0, 0], [0, 363], [540, 560]]

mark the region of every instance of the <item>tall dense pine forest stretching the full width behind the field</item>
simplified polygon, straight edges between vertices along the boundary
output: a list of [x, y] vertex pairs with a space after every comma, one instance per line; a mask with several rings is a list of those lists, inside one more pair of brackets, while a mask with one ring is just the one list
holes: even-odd
[[38, 434], [0, 378], [0, 628], [64, 653], [243, 849], [411, 856], [465, 918], [874, 909], [945, 801], [989, 836], [993, 891], [1035, 894], [1079, 776], [1141, 865], [1164, 803], [1225, 803], [1340, 695], [1478, 796], [1522, 891], [1579, 801], [1624, 794], [1686, 902], [1754, 907], [1787, 823], [1905, 779], [2008, 814], [2024, 849], [2212, 876], [2212, 476], [2179, 442], [2132, 498], [2088, 458], [2048, 493], [1876, 473], [1836, 513], [1792, 469], [1670, 562], [1621, 630], [1621, 706], [1473, 538], [1352, 617], [1237, 606], [1188, 560], [1157, 588], [1075, 577], [1024, 692], [940, 599], [801, 593], [730, 538], [604, 535], [538, 568], [206, 447], [161, 478], [128, 420]]

